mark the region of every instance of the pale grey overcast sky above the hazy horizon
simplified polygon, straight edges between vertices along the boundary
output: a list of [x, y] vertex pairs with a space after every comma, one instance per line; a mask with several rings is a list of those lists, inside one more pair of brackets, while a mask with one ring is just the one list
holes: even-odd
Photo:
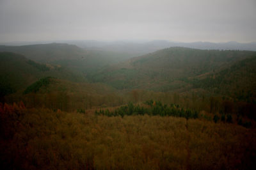
[[256, 0], [0, 0], [0, 42], [255, 42]]

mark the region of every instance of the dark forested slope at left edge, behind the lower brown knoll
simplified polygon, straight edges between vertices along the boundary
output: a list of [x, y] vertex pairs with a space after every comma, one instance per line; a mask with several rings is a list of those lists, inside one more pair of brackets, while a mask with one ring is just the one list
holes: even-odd
[[45, 65], [12, 52], [0, 52], [1, 96], [24, 89], [42, 77], [85, 81], [83, 77], [60, 65]]

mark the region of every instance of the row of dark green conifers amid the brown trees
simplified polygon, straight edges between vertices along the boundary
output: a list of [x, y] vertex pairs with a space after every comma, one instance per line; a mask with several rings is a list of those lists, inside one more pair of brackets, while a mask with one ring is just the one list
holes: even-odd
[[[86, 113], [83, 109], [77, 109], [77, 112]], [[134, 105], [132, 102], [129, 102], [127, 105], [123, 105], [121, 107], [117, 107], [113, 111], [109, 111], [109, 109], [99, 109], [95, 110], [95, 115], [104, 115], [104, 116], [136, 116], [136, 115], [149, 115], [149, 116], [173, 116], [179, 118], [188, 119], [196, 119], [203, 118], [204, 120], [214, 121], [215, 123], [237, 123], [246, 128], [252, 127], [252, 122], [248, 120], [244, 120], [241, 115], [233, 115], [228, 113], [215, 113], [215, 114], [200, 114], [200, 112], [184, 109], [184, 107], [180, 107], [179, 104], [162, 104], [159, 101], [148, 100], [144, 102], [144, 104]]]

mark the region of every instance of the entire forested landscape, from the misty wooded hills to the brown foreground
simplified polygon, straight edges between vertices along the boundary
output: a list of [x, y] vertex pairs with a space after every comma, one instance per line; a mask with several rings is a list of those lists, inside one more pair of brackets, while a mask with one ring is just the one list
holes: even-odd
[[255, 169], [256, 52], [138, 51], [0, 45], [0, 166]]

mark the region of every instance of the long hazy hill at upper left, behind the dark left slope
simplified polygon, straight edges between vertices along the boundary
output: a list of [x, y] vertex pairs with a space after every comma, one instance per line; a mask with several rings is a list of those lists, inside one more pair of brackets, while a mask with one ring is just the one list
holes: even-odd
[[70, 68], [87, 75], [106, 65], [131, 58], [129, 53], [104, 50], [84, 50], [67, 43], [47, 43], [22, 46], [0, 46], [0, 51], [15, 52], [40, 63], [50, 63]]

